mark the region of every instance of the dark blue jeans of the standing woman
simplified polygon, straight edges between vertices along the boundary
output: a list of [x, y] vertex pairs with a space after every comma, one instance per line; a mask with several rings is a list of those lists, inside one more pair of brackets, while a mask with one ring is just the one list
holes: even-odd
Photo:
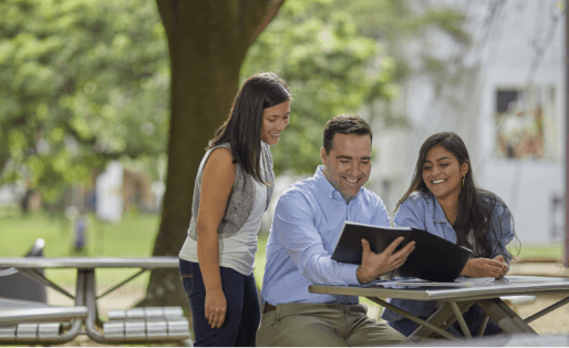
[[255, 347], [261, 320], [255, 276], [220, 267], [227, 313], [220, 328], [213, 329], [205, 317], [206, 288], [199, 264], [179, 260], [179, 275], [189, 298], [194, 320], [195, 347]]

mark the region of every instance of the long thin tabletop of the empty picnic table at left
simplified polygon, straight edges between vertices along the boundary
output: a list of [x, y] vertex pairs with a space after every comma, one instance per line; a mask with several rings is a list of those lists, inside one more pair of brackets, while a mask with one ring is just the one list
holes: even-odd
[[24, 268], [178, 268], [177, 256], [155, 257], [0, 257], [0, 267]]

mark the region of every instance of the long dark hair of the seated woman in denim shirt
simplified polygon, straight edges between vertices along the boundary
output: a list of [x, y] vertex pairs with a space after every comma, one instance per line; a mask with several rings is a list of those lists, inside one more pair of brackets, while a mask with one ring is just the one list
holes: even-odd
[[[501, 205], [504, 209], [508, 207], [506, 203], [494, 193], [476, 186], [468, 151], [463, 140], [456, 133], [436, 133], [423, 143], [418, 152], [417, 164], [413, 180], [411, 181], [411, 186], [405, 195], [397, 202], [395, 212], [414, 191], [430, 192], [423, 181], [423, 165], [425, 164], [428, 151], [436, 145], [442, 145], [449, 151], [456, 160], [458, 160], [459, 166], [462, 166], [463, 163], [468, 164], [468, 172], [465, 175], [464, 185], [458, 196], [458, 215], [453, 226], [456, 232], [457, 244], [472, 249], [473, 257], [489, 257], [497, 252], [506, 259], [509, 259], [511, 254], [507, 249], [503, 249], [500, 244], [497, 243], [499, 242], [499, 236], [495, 228], [499, 224], [493, 221], [493, 214], [497, 205]], [[514, 224], [514, 218], [511, 218], [511, 223]], [[494, 243], [495, 245], [493, 245], [492, 239], [496, 240], [496, 243]]]

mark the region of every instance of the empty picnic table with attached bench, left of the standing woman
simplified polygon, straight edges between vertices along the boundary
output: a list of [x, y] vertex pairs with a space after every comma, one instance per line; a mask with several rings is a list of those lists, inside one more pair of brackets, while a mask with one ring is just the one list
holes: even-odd
[[[177, 257], [138, 257], [138, 258], [120, 258], [120, 257], [64, 257], [64, 258], [0, 258], [0, 268], [14, 268], [19, 273], [49, 286], [62, 295], [74, 299], [75, 308], [83, 310], [86, 308], [86, 316], [77, 318], [73, 321], [70, 329], [64, 336], [58, 338], [58, 341], [73, 339], [79, 334], [86, 334], [92, 340], [100, 344], [149, 344], [149, 342], [174, 342], [182, 341], [190, 345], [189, 323], [184, 317], [180, 307], [146, 307], [133, 308], [128, 310], [110, 310], [110, 321], [103, 323], [99, 317], [97, 300], [125, 284], [132, 282], [145, 272], [156, 268], [178, 268]], [[75, 295], [70, 294], [58, 284], [48, 279], [37, 269], [45, 268], [74, 268], [77, 272]], [[111, 287], [110, 290], [97, 295], [95, 269], [96, 268], [139, 268], [139, 270], [124, 279], [123, 282]], [[43, 307], [41, 310], [46, 310]], [[71, 307], [73, 308], [73, 307]], [[51, 310], [51, 309], [50, 309]], [[79, 310], [79, 309], [76, 309]], [[43, 320], [42, 320], [43, 321]], [[2, 324], [0, 324], [2, 325]], [[24, 325], [23, 323], [21, 325]], [[39, 324], [43, 325], [43, 324]], [[84, 325], [85, 331], [80, 332], [81, 326]], [[33, 325], [32, 325], [33, 326]], [[43, 332], [49, 326], [22, 326], [23, 330]], [[50, 327], [55, 330], [55, 326]], [[7, 329], [9, 330], [9, 329]], [[15, 331], [18, 334], [18, 331]], [[7, 334], [8, 335], [8, 334]], [[43, 335], [43, 334], [42, 334]], [[43, 335], [44, 336], [44, 335]], [[61, 336], [61, 335], [60, 335]], [[14, 336], [13, 344], [24, 344], [23, 339]], [[40, 335], [37, 334], [38, 344]], [[12, 338], [13, 339], [13, 338]], [[71, 340], [69, 339], [69, 340]], [[8, 341], [9, 338], [2, 340]], [[28, 340], [25, 340], [28, 342]]]

